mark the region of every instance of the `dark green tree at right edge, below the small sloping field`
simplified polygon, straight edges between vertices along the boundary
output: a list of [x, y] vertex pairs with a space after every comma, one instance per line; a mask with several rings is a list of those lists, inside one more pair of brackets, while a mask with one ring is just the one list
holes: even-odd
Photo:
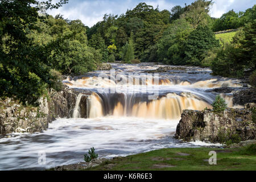
[[247, 23], [217, 52], [211, 66], [214, 75], [242, 77], [245, 68], [255, 70], [255, 26], [255, 22]]

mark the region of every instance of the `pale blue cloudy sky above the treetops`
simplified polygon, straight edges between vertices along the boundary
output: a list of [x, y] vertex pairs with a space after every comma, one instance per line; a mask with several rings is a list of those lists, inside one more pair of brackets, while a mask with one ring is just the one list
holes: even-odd
[[[57, 0], [55, 0], [56, 2]], [[59, 9], [48, 11], [49, 14], [55, 16], [61, 14], [69, 20], [80, 19], [88, 27], [92, 27], [101, 21], [104, 14], [120, 15], [125, 14], [127, 9], [134, 9], [140, 2], [145, 2], [154, 8], [159, 6], [159, 10], [171, 10], [172, 7], [185, 3], [190, 5], [195, 0], [69, 0], [68, 4], [63, 5]], [[54, 1], [53, 1], [54, 2]], [[214, 4], [210, 9], [210, 15], [215, 18], [229, 10], [245, 11], [253, 7], [255, 0], [213, 0]]]

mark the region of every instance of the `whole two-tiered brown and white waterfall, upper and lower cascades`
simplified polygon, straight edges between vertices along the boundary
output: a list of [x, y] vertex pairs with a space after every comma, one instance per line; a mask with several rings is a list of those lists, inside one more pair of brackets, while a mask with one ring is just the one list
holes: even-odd
[[[179, 119], [184, 109], [212, 108], [210, 104], [215, 95], [205, 92], [206, 89], [224, 86], [241, 87], [237, 80], [212, 77], [208, 72], [205, 72], [205, 76], [164, 73], [160, 77], [154, 75], [154, 78], [158, 78], [155, 81], [146, 77], [138, 68], [134, 70], [138, 73], [130, 74], [126, 69], [119, 69], [116, 70], [115, 75], [110, 72], [106, 73], [105, 77], [97, 74], [68, 77], [63, 82], [71, 88], [86, 88], [93, 92], [86, 100], [88, 118], [110, 115], [112, 117]], [[119, 76], [119, 73], [122, 73], [122, 76]], [[142, 73], [141, 76], [139, 73]], [[113, 89], [115, 93], [109, 92], [109, 89]], [[156, 100], [149, 100], [148, 95], [155, 93], [155, 90], [160, 96]], [[225, 98], [229, 107], [233, 106], [233, 96], [223, 95], [222, 97]], [[79, 115], [80, 99], [81, 96], [78, 96], [73, 117]]]

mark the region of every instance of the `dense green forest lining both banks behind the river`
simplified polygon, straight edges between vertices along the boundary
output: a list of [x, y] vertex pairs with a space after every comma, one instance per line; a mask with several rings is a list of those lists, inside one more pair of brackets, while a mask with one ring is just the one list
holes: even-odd
[[[255, 70], [256, 5], [212, 18], [212, 1], [170, 11], [139, 3], [119, 16], [105, 14], [89, 28], [81, 20], [46, 14], [64, 3], [0, 2], [0, 97], [35, 105], [48, 88], [61, 89], [61, 75], [79, 75], [113, 61], [203, 66], [232, 77]], [[237, 28], [230, 43], [214, 35]], [[254, 71], [254, 84], [255, 77]]]

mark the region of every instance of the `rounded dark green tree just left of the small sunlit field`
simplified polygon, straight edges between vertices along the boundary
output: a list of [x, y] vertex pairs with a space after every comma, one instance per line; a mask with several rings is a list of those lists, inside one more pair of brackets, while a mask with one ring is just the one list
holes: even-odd
[[185, 60], [187, 64], [200, 65], [205, 52], [219, 45], [209, 27], [199, 26], [191, 32], [185, 43]]

